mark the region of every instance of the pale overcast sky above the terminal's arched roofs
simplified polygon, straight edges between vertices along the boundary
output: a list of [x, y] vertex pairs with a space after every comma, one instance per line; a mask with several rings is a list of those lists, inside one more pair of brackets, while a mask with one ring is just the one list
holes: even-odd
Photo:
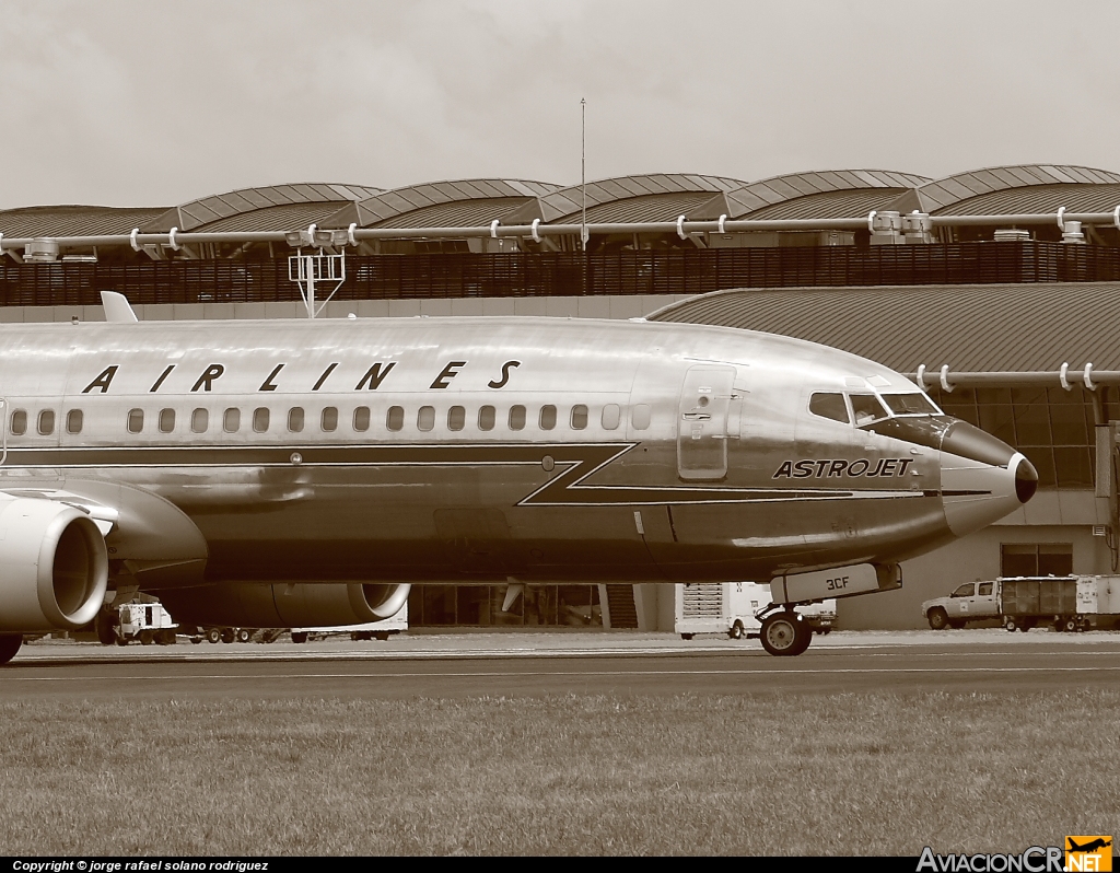
[[814, 169], [1120, 171], [1120, 3], [0, 0], [0, 208]]

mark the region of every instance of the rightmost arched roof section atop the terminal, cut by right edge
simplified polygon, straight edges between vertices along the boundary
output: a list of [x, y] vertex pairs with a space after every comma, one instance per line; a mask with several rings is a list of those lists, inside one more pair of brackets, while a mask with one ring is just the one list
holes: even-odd
[[[1014, 194], [1005, 195], [1002, 201], [1002, 203], [1007, 204], [1005, 208], [1012, 213], [1035, 212], [1036, 208], [1032, 206], [1033, 194], [1029, 191], [1032, 187], [1038, 185], [1096, 186], [1117, 183], [1120, 183], [1120, 175], [1110, 173], [1109, 170], [1093, 169], [1092, 167], [1051, 164], [989, 167], [970, 173], [960, 173], [955, 176], [946, 176], [943, 179], [935, 179], [934, 182], [918, 186], [914, 192], [916, 202], [913, 203], [913, 208], [928, 212], [932, 215], [955, 215], [967, 201], [973, 201], [995, 192], [1018, 189], [1020, 192], [1019, 197], [1016, 197]], [[907, 207], [911, 206], [909, 198], [907, 198], [905, 205]], [[1020, 205], [1023, 206], [1021, 208], [1019, 207]], [[984, 213], [972, 212], [971, 214], [981, 215]]]

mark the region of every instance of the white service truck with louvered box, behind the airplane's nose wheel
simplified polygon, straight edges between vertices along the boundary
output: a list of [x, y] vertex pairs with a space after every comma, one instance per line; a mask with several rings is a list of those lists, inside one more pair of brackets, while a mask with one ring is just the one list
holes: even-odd
[[[726, 633], [732, 640], [762, 635], [756, 617], [772, 601], [771, 586], [753, 582], [691, 583], [676, 586], [673, 630], [683, 640], [698, 633]], [[821, 601], [797, 610], [814, 633], [829, 633], [836, 625], [837, 602]]]

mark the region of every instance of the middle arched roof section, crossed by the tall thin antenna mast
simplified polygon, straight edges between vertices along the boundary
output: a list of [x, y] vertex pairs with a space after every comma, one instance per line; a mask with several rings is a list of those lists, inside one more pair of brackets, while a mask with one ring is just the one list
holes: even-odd
[[[673, 203], [685, 203], [690, 198], [668, 199], [663, 208], [653, 207], [650, 202], [642, 203], [642, 198], [650, 198], [657, 195], [681, 195], [708, 193], [718, 194], [728, 192], [744, 185], [741, 179], [731, 179], [722, 176], [700, 176], [683, 173], [654, 173], [647, 176], [618, 176], [613, 179], [598, 179], [587, 183], [587, 217], [591, 220], [591, 211], [606, 204], [622, 203], [624, 201], [635, 201], [631, 203], [633, 212], [628, 207], [619, 207], [610, 214], [616, 217], [601, 219], [596, 221], [668, 221], [682, 214]], [[582, 186], [570, 185], [560, 188], [551, 194], [538, 198], [538, 203], [532, 207], [526, 206], [510, 216], [508, 223], [530, 222], [540, 219], [545, 223], [559, 222], [562, 219], [575, 217], [582, 212], [584, 204]], [[694, 203], [692, 204], [696, 205]], [[673, 212], [673, 210], [676, 210]], [[672, 213], [672, 214], [670, 214]], [[632, 214], [648, 216], [656, 214], [656, 219], [629, 217]]]

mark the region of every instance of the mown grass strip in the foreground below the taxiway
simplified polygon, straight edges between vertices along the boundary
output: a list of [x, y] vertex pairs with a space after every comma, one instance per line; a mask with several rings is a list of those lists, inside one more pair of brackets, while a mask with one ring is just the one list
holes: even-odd
[[0, 705], [35, 855], [1012, 852], [1120, 835], [1120, 691]]

